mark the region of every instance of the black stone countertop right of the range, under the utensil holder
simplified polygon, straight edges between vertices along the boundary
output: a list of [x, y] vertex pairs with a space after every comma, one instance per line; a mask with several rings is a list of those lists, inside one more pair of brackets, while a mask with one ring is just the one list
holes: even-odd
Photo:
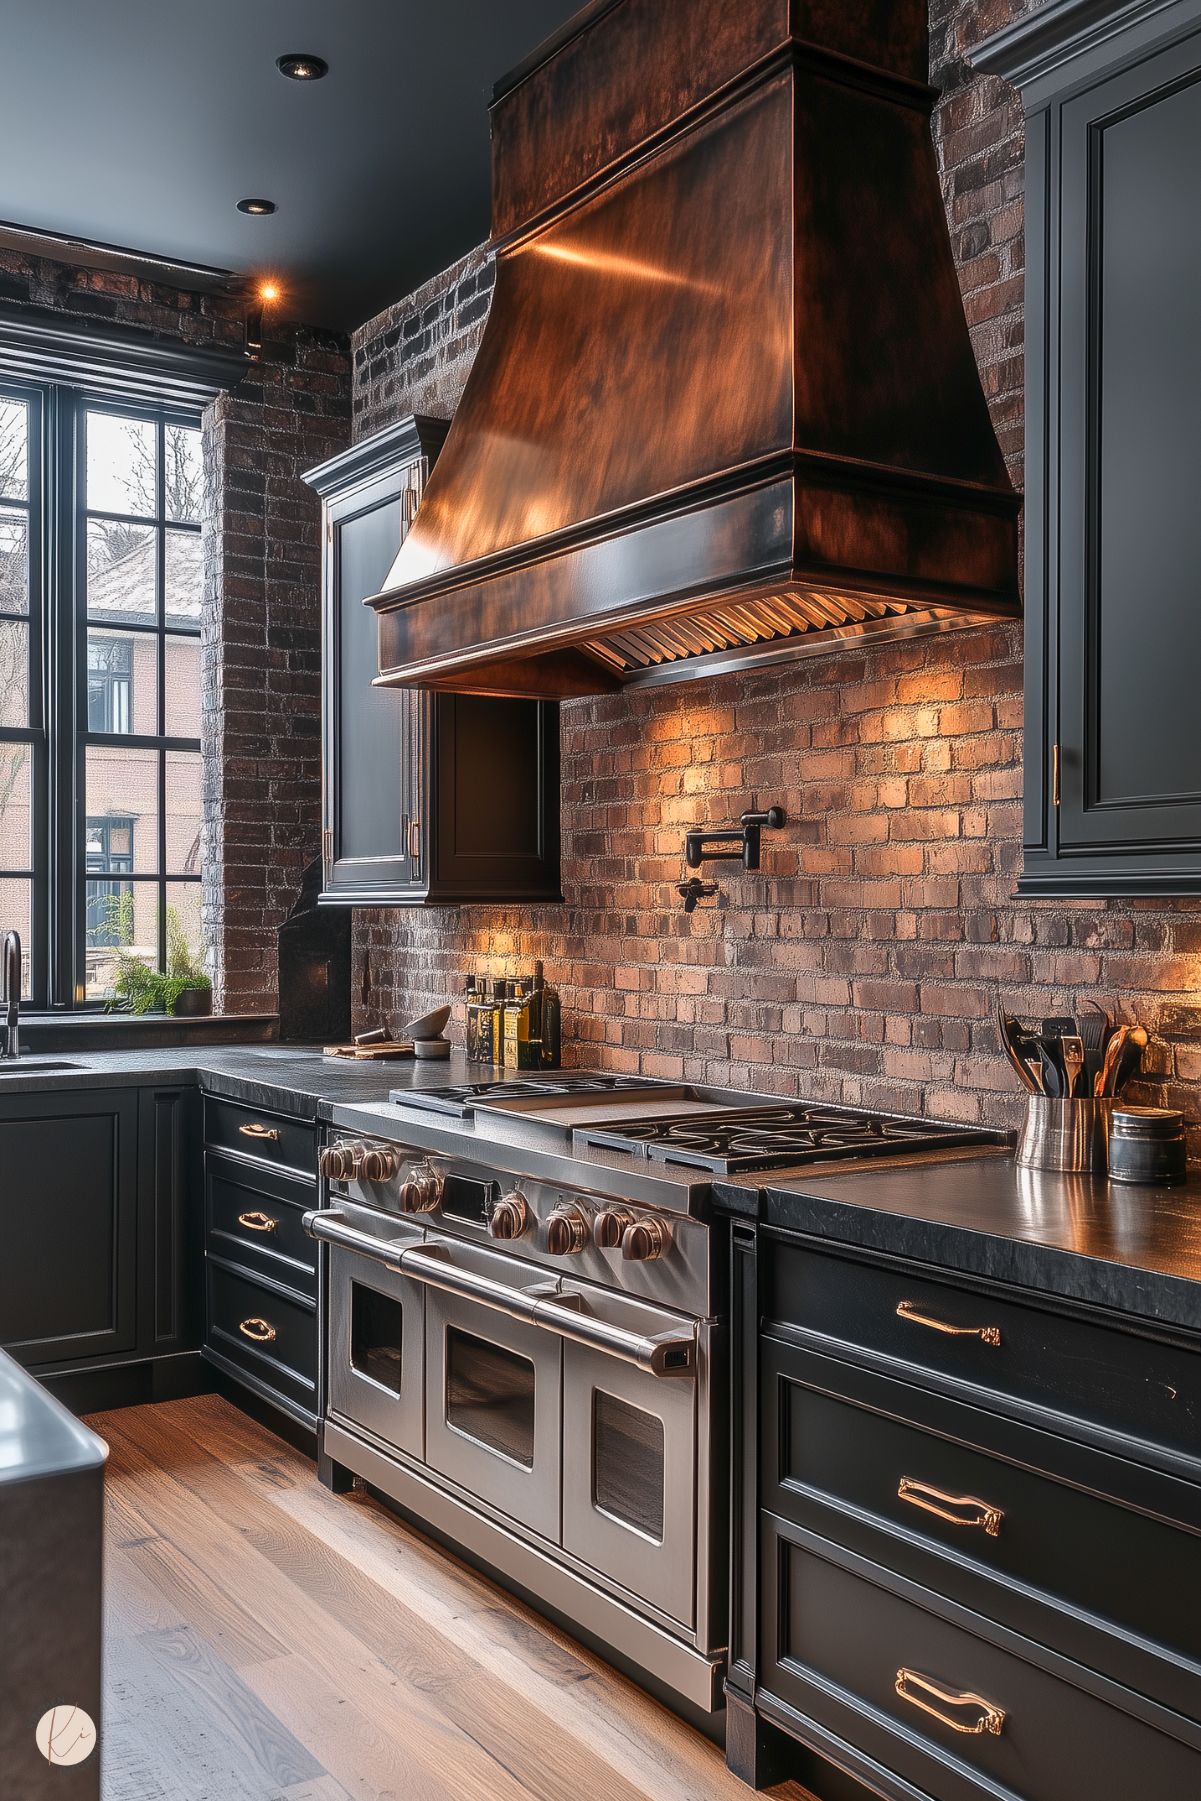
[[893, 1158], [724, 1181], [718, 1205], [810, 1237], [1201, 1331], [1201, 1176], [1174, 1189]]

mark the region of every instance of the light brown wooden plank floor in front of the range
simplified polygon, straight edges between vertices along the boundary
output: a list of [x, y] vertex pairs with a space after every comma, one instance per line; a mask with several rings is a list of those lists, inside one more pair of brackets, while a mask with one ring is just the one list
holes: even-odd
[[90, 1425], [104, 1801], [749, 1801], [704, 1738], [229, 1403]]

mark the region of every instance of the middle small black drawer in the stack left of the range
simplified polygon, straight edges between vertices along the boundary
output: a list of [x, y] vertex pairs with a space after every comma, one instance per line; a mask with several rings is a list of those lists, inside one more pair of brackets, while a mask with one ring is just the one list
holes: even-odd
[[317, 1205], [312, 1185], [274, 1171], [248, 1171], [234, 1156], [205, 1153], [205, 1244], [216, 1257], [317, 1295], [317, 1243], [301, 1219]]

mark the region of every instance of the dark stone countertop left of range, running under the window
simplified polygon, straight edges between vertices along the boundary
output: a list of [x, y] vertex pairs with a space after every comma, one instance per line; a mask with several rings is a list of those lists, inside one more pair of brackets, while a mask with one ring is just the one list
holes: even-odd
[[[70, 1066], [67, 1066], [70, 1064]], [[81, 1050], [0, 1063], [0, 1099], [72, 1088], [140, 1088], [200, 1082], [205, 1093], [270, 1108], [293, 1118], [324, 1118], [340, 1104], [387, 1100], [393, 1088], [436, 1088], [474, 1072], [461, 1054], [448, 1061], [400, 1057], [351, 1063], [303, 1045], [176, 1045], [155, 1050]]]

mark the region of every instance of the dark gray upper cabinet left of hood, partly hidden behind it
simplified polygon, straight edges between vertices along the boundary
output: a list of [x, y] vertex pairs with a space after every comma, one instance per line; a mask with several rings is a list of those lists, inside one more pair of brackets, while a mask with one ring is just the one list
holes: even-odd
[[324, 904], [562, 899], [558, 708], [371, 686], [364, 602], [445, 434], [403, 420], [306, 475], [322, 499]]

